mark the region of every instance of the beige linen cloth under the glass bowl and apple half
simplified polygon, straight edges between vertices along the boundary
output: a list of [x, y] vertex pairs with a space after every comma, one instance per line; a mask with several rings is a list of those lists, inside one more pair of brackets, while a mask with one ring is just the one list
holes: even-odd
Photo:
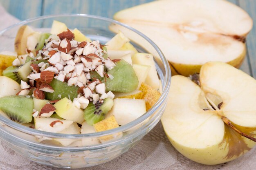
[[[19, 20], [0, 5], [0, 30]], [[256, 149], [216, 166], [195, 163], [181, 155], [168, 141], [161, 122], [137, 145], [120, 157], [83, 170], [256, 170]], [[27, 160], [0, 141], [0, 170], [59, 170]], [[80, 169], [82, 170], [82, 169]]]

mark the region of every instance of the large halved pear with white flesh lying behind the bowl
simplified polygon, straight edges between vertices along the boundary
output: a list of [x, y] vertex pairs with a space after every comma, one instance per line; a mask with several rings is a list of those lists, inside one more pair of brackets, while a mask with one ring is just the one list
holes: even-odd
[[[114, 19], [148, 36], [163, 51], [173, 73], [186, 76], [209, 61], [239, 67], [245, 57], [245, 36], [253, 25], [243, 9], [226, 0], [158, 0], [119, 11]], [[122, 31], [155, 54], [124, 27], [113, 24], [110, 29]]]

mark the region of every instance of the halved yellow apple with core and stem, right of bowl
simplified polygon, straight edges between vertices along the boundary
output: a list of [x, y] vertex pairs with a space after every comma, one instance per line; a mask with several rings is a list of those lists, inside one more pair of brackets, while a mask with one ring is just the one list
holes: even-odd
[[[255, 146], [256, 80], [223, 62], [208, 62], [200, 77], [172, 77], [162, 124], [185, 157], [213, 165]], [[214, 109], [213, 109], [214, 108]]]

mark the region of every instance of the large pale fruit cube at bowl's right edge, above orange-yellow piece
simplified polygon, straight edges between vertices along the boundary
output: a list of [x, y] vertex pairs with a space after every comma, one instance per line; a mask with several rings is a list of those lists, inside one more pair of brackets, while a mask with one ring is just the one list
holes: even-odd
[[146, 77], [145, 83], [153, 87], [155, 90], [158, 90], [159, 78], [157, 75], [157, 70], [155, 68], [153, 55], [147, 53], [136, 53], [132, 56], [132, 63], [151, 66], [148, 72], [148, 76]]

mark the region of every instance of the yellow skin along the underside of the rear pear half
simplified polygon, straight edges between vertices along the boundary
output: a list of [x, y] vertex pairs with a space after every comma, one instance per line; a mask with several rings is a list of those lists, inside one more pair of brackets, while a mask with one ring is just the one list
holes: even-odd
[[[245, 44], [244, 44], [245, 46]], [[246, 46], [244, 48], [243, 53], [239, 55], [236, 59], [227, 62], [227, 64], [230, 64], [231, 66], [234, 66], [236, 68], [240, 68], [240, 66], [243, 64], [243, 61], [245, 60], [246, 56]], [[173, 75], [184, 75], [188, 77], [189, 75], [193, 75], [194, 73], [199, 73], [202, 65], [193, 65], [193, 64], [181, 64], [181, 63], [175, 63], [170, 62], [169, 65], [171, 67], [171, 73]]]

